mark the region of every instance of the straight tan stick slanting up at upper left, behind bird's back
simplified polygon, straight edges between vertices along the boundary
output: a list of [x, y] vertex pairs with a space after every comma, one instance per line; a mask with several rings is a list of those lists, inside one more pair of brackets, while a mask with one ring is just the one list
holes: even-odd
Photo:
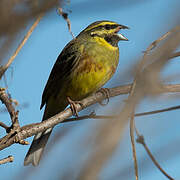
[[15, 50], [14, 54], [10, 57], [10, 59], [8, 60], [7, 64], [4, 65], [0, 71], [0, 79], [2, 78], [3, 74], [6, 72], [6, 70], [9, 68], [9, 66], [12, 64], [12, 62], [14, 61], [15, 57], [17, 56], [17, 54], [19, 53], [19, 51], [21, 50], [21, 48], [24, 46], [24, 44], [26, 43], [26, 41], [28, 40], [28, 38], [30, 37], [30, 35], [32, 34], [33, 30], [35, 29], [35, 27], [38, 25], [38, 23], [40, 22], [41, 18], [43, 17], [43, 14], [40, 14], [36, 21], [34, 22], [34, 24], [31, 26], [31, 28], [29, 29], [29, 31], [26, 33], [26, 35], [24, 36], [23, 40], [21, 41], [21, 43], [19, 44], [19, 46], [17, 47], [17, 49]]

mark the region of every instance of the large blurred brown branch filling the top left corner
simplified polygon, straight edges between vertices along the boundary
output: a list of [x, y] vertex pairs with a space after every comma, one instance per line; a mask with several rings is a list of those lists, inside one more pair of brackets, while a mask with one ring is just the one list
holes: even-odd
[[57, 7], [63, 1], [59, 0], [1, 0], [0, 1], [0, 62], [4, 59], [13, 45], [19, 32], [24, 30], [28, 23]]

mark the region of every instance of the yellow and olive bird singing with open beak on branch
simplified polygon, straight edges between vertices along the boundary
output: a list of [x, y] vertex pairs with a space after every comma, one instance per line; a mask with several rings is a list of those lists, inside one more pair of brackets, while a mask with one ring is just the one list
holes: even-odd
[[[119, 33], [129, 29], [114, 21], [96, 21], [72, 39], [58, 56], [42, 95], [42, 121], [63, 111], [68, 104], [98, 91], [111, 79], [119, 62]], [[37, 166], [53, 128], [35, 135], [24, 165]]]

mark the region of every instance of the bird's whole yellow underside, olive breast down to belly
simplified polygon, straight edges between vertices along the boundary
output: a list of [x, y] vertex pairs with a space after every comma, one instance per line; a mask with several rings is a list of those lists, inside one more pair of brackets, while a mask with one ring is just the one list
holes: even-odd
[[101, 88], [114, 74], [119, 60], [119, 51], [87, 49], [72, 73], [66, 96], [81, 100]]

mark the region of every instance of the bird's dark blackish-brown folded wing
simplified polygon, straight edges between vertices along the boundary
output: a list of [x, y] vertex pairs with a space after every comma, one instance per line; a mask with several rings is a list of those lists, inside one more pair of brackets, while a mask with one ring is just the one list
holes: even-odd
[[80, 51], [77, 48], [77, 42], [76, 40], [72, 40], [65, 46], [53, 66], [44, 88], [40, 109], [47, 103], [51, 95], [56, 96], [60, 92], [64, 86], [64, 82], [68, 81], [69, 74], [76, 62], [78, 62], [79, 57]]

